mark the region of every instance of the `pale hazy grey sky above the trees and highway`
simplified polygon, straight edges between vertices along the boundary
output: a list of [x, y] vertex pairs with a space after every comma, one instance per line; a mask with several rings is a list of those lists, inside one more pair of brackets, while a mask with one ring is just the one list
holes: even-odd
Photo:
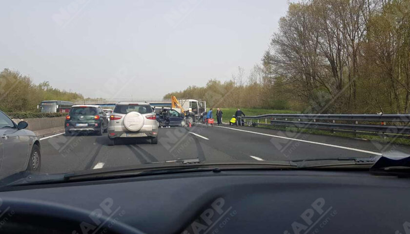
[[260, 62], [287, 0], [2, 0], [0, 69], [85, 97], [162, 98]]

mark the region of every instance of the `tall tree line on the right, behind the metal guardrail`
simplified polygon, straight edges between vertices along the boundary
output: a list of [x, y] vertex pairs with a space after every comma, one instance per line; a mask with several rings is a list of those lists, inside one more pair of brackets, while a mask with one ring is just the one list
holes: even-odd
[[306, 113], [409, 113], [410, 0], [289, 3], [262, 57], [245, 78], [165, 95], [221, 107]]

